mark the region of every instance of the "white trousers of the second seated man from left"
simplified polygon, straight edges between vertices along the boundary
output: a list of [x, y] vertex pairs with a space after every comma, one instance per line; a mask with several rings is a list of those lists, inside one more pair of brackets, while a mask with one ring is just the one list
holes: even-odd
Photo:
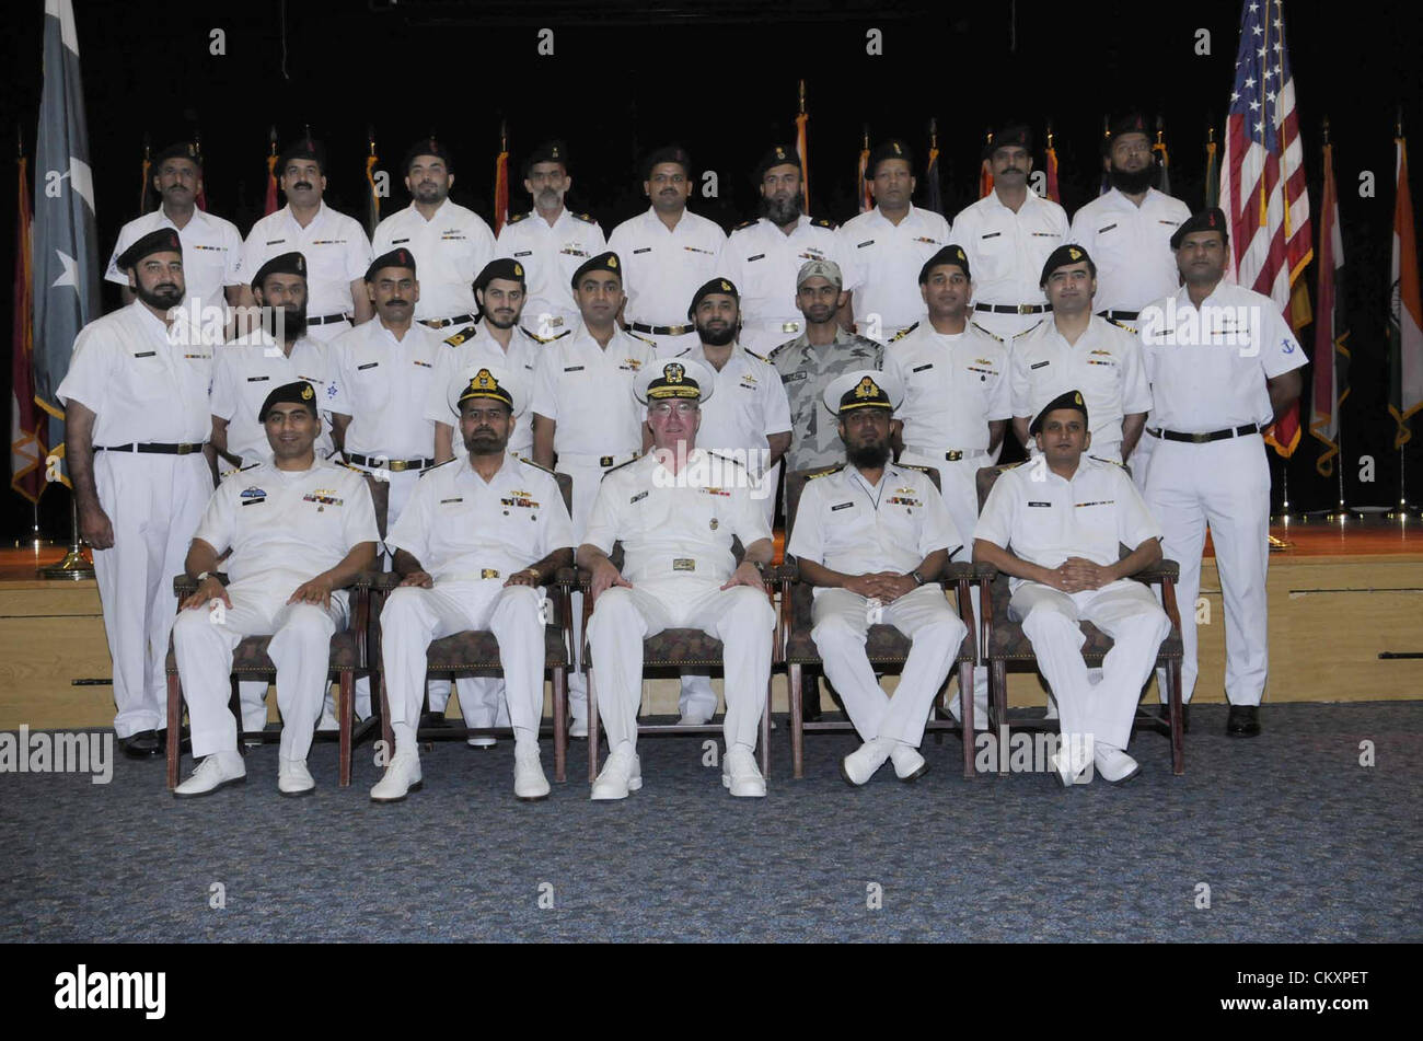
[[425, 653], [433, 640], [467, 630], [488, 630], [499, 643], [509, 721], [515, 731], [536, 737], [544, 714], [544, 621], [539, 602], [539, 590], [505, 587], [502, 579], [441, 582], [434, 589], [403, 586], [391, 592], [380, 616], [391, 724], [420, 725]]

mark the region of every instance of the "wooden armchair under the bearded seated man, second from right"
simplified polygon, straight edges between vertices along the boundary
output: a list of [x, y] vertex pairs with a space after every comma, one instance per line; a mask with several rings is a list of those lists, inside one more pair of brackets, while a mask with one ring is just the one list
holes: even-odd
[[[811, 474], [820, 471], [800, 469], [785, 475], [785, 545], [790, 545], [791, 530], [795, 526], [795, 512], [800, 509], [801, 492]], [[939, 486], [939, 472], [929, 469], [929, 479], [933, 486]], [[805, 731], [811, 732], [845, 732], [854, 731], [852, 722], [821, 721], [805, 722], [801, 714], [801, 704], [805, 690], [805, 670], [820, 670], [822, 661], [815, 641], [811, 639], [811, 607], [814, 604], [813, 586], [800, 580], [800, 569], [790, 555], [785, 563], [777, 569], [777, 580], [781, 587], [781, 660], [785, 663], [787, 687], [790, 693], [790, 725], [791, 725], [791, 768], [797, 779], [805, 775]], [[969, 630], [959, 646], [955, 664], [959, 671], [959, 688], [973, 690], [973, 661], [976, 657], [976, 641], [973, 633], [973, 607], [969, 602], [969, 583], [973, 579], [973, 566], [969, 563], [951, 563], [939, 576], [939, 584], [948, 590], [955, 590], [959, 617]], [[865, 639], [865, 654], [875, 673], [899, 673], [909, 657], [911, 641], [894, 626], [875, 624], [869, 627]], [[814, 676], [811, 678], [814, 683]], [[939, 708], [945, 705], [945, 690], [939, 691]], [[942, 732], [946, 730], [959, 731], [963, 735], [963, 776], [972, 779], [973, 771], [973, 698], [963, 701], [963, 722], [953, 720], [929, 720], [925, 731]], [[948, 714], [945, 711], [945, 714]], [[939, 737], [942, 741], [942, 737]]]

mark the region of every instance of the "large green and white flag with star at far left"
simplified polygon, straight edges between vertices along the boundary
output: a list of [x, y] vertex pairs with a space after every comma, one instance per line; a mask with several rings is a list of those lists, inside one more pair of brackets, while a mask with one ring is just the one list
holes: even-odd
[[70, 371], [74, 337], [100, 314], [95, 245], [74, 6], [44, 0], [44, 91], [34, 152], [34, 397], [51, 417], [50, 454], [61, 459], [64, 410], [54, 391]]

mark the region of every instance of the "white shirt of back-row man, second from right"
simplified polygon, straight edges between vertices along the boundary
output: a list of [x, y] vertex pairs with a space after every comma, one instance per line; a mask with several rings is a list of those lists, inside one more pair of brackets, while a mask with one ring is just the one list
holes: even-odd
[[953, 242], [973, 274], [973, 303], [1046, 304], [1037, 280], [1047, 256], [1067, 239], [1067, 213], [1033, 191], [1015, 213], [989, 192], [953, 218]]

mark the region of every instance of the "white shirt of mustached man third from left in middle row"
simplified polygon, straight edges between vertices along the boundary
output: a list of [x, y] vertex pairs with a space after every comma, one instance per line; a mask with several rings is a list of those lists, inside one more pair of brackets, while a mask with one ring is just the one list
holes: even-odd
[[445, 350], [440, 334], [418, 321], [397, 340], [380, 316], [332, 340], [326, 407], [351, 417], [347, 452], [390, 459], [434, 455], [435, 425], [425, 418], [425, 405]]

